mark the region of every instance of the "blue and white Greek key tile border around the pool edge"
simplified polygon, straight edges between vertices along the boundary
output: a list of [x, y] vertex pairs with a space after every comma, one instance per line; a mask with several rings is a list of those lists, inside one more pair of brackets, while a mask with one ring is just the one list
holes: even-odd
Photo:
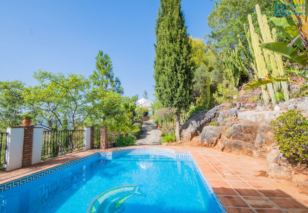
[[214, 192], [214, 190], [211, 187], [211, 185], [209, 184], [208, 180], [203, 175], [201, 169], [197, 165], [195, 159], [191, 156], [190, 152], [175, 152], [173, 150], [161, 149], [161, 148], [134, 148], [134, 149], [122, 149], [122, 150], [117, 150], [117, 151], [113, 151], [113, 152], [97, 152], [97, 153], [94, 153], [92, 155], [88, 155], [86, 157], [79, 158], [79, 159], [61, 164], [59, 166], [55, 166], [55, 167], [52, 167], [50, 169], [43, 170], [43, 171], [34, 173], [32, 175], [25, 176], [25, 177], [17, 179], [17, 180], [10, 181], [8, 183], [4, 183], [4, 184], [0, 185], [0, 193], [3, 192], [3, 191], [6, 191], [6, 190], [10, 190], [12, 188], [18, 187], [18, 186], [23, 185], [25, 183], [29, 183], [30, 181], [42, 178], [46, 175], [50, 175], [50, 174], [52, 174], [56, 171], [60, 171], [62, 169], [68, 168], [68, 167], [76, 166], [78, 163], [82, 163], [86, 160], [93, 159], [95, 157], [98, 157], [98, 158], [100, 157], [102, 159], [110, 159], [111, 160], [111, 159], [115, 159], [118, 156], [126, 155], [128, 153], [161, 154], [161, 155], [166, 155], [166, 156], [172, 157], [176, 160], [191, 160], [193, 162], [194, 167], [197, 170], [197, 173], [200, 175], [203, 183], [209, 189], [210, 193], [213, 195], [214, 199], [216, 200], [216, 203], [218, 204], [218, 207], [220, 208], [221, 212], [227, 213], [227, 211], [225, 210], [225, 207], [222, 205], [218, 196]]

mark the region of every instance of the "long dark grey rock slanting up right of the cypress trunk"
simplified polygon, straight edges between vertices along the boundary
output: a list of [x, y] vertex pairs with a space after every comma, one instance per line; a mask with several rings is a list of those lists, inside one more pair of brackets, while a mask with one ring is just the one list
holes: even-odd
[[203, 127], [209, 123], [216, 121], [219, 112], [227, 105], [221, 104], [211, 110], [203, 110], [198, 114], [193, 114], [189, 117], [186, 123], [181, 126], [180, 133], [182, 134], [183, 141], [190, 141], [193, 137], [202, 132]]

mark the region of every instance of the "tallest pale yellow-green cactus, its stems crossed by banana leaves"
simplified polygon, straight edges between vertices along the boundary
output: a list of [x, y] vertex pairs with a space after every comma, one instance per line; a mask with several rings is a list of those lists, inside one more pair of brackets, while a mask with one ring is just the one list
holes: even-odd
[[[266, 15], [261, 14], [260, 6], [258, 4], [256, 5], [256, 12], [257, 12], [257, 18], [258, 18], [259, 26], [260, 26], [260, 29], [261, 29], [261, 35], [262, 35], [263, 42], [265, 42], [265, 43], [276, 42], [276, 40], [277, 40], [276, 29], [273, 28], [272, 36], [271, 36], [270, 27], [267, 24]], [[284, 72], [284, 69], [283, 69], [283, 63], [282, 63], [281, 55], [274, 53], [270, 50], [266, 50], [266, 49], [263, 49], [263, 53], [264, 53], [264, 58], [265, 58], [266, 64], [268, 66], [270, 66], [271, 69], [272, 69], [272, 74], [274, 74], [274, 76], [284, 75], [285, 72]], [[263, 76], [263, 77], [265, 77], [265, 76]], [[276, 82], [273, 86], [274, 86], [274, 92], [275, 93], [278, 90], [280, 90], [280, 88], [282, 87], [285, 100], [286, 101], [289, 100], [289, 91], [288, 91], [287, 82]], [[272, 99], [273, 99], [273, 97], [272, 97]]]

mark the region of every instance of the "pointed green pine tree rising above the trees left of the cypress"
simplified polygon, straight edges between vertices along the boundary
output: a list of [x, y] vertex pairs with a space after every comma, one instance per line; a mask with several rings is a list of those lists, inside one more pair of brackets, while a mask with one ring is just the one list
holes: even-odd
[[120, 79], [118, 77], [114, 77], [110, 57], [106, 53], [103, 54], [102, 50], [99, 50], [99, 53], [95, 59], [96, 70], [94, 70], [93, 74], [90, 76], [93, 86], [100, 90], [105, 90], [106, 92], [112, 91], [123, 94], [124, 89], [121, 86]]

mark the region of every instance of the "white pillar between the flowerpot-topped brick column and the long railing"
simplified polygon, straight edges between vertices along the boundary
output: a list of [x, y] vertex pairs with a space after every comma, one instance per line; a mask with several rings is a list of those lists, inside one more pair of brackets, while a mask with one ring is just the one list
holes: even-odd
[[41, 162], [42, 156], [42, 143], [43, 143], [43, 127], [34, 127], [33, 129], [33, 149], [32, 149], [32, 162]]

